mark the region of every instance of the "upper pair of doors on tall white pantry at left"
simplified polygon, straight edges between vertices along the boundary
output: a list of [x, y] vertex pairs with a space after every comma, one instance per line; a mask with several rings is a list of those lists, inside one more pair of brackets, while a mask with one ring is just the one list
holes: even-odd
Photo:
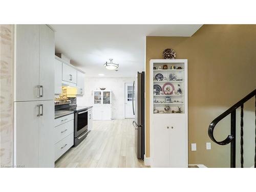
[[15, 26], [14, 101], [54, 99], [54, 32], [46, 25]]

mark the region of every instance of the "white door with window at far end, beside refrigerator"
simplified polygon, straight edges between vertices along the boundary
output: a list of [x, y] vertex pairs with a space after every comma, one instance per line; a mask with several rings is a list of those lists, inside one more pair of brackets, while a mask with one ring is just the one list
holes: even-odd
[[133, 94], [133, 82], [125, 83], [125, 118], [134, 118], [133, 99], [135, 99], [135, 90]]

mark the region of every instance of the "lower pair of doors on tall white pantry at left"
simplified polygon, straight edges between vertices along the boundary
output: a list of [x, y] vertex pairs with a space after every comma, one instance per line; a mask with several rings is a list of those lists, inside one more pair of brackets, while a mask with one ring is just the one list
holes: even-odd
[[54, 101], [15, 102], [14, 113], [14, 163], [54, 167]]

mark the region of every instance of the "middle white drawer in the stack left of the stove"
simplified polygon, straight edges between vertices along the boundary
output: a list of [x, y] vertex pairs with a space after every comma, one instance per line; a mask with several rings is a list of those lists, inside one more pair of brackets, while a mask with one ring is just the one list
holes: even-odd
[[74, 132], [74, 119], [54, 127], [54, 143]]

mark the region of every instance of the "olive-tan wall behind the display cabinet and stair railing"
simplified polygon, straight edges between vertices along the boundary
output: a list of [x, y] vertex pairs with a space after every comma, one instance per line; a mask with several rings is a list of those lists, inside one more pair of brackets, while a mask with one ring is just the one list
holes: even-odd
[[[150, 59], [163, 58], [166, 48], [174, 49], [176, 58], [188, 59], [189, 164], [229, 167], [229, 145], [212, 143], [207, 129], [214, 118], [256, 87], [256, 25], [203, 25], [191, 37], [146, 37], [146, 95], [150, 95]], [[149, 99], [146, 97], [147, 157], [150, 157]], [[247, 166], [252, 164], [254, 154], [251, 151], [254, 140], [249, 141], [255, 129], [253, 105], [254, 99], [245, 106], [245, 118], [249, 119], [245, 142], [250, 146], [246, 150], [250, 157]], [[230, 117], [227, 117], [216, 128], [217, 140], [225, 139], [229, 129]], [[239, 126], [237, 129], [240, 131]], [[212, 143], [211, 150], [206, 150], [206, 142]], [[197, 143], [197, 151], [191, 152], [191, 143]]]

